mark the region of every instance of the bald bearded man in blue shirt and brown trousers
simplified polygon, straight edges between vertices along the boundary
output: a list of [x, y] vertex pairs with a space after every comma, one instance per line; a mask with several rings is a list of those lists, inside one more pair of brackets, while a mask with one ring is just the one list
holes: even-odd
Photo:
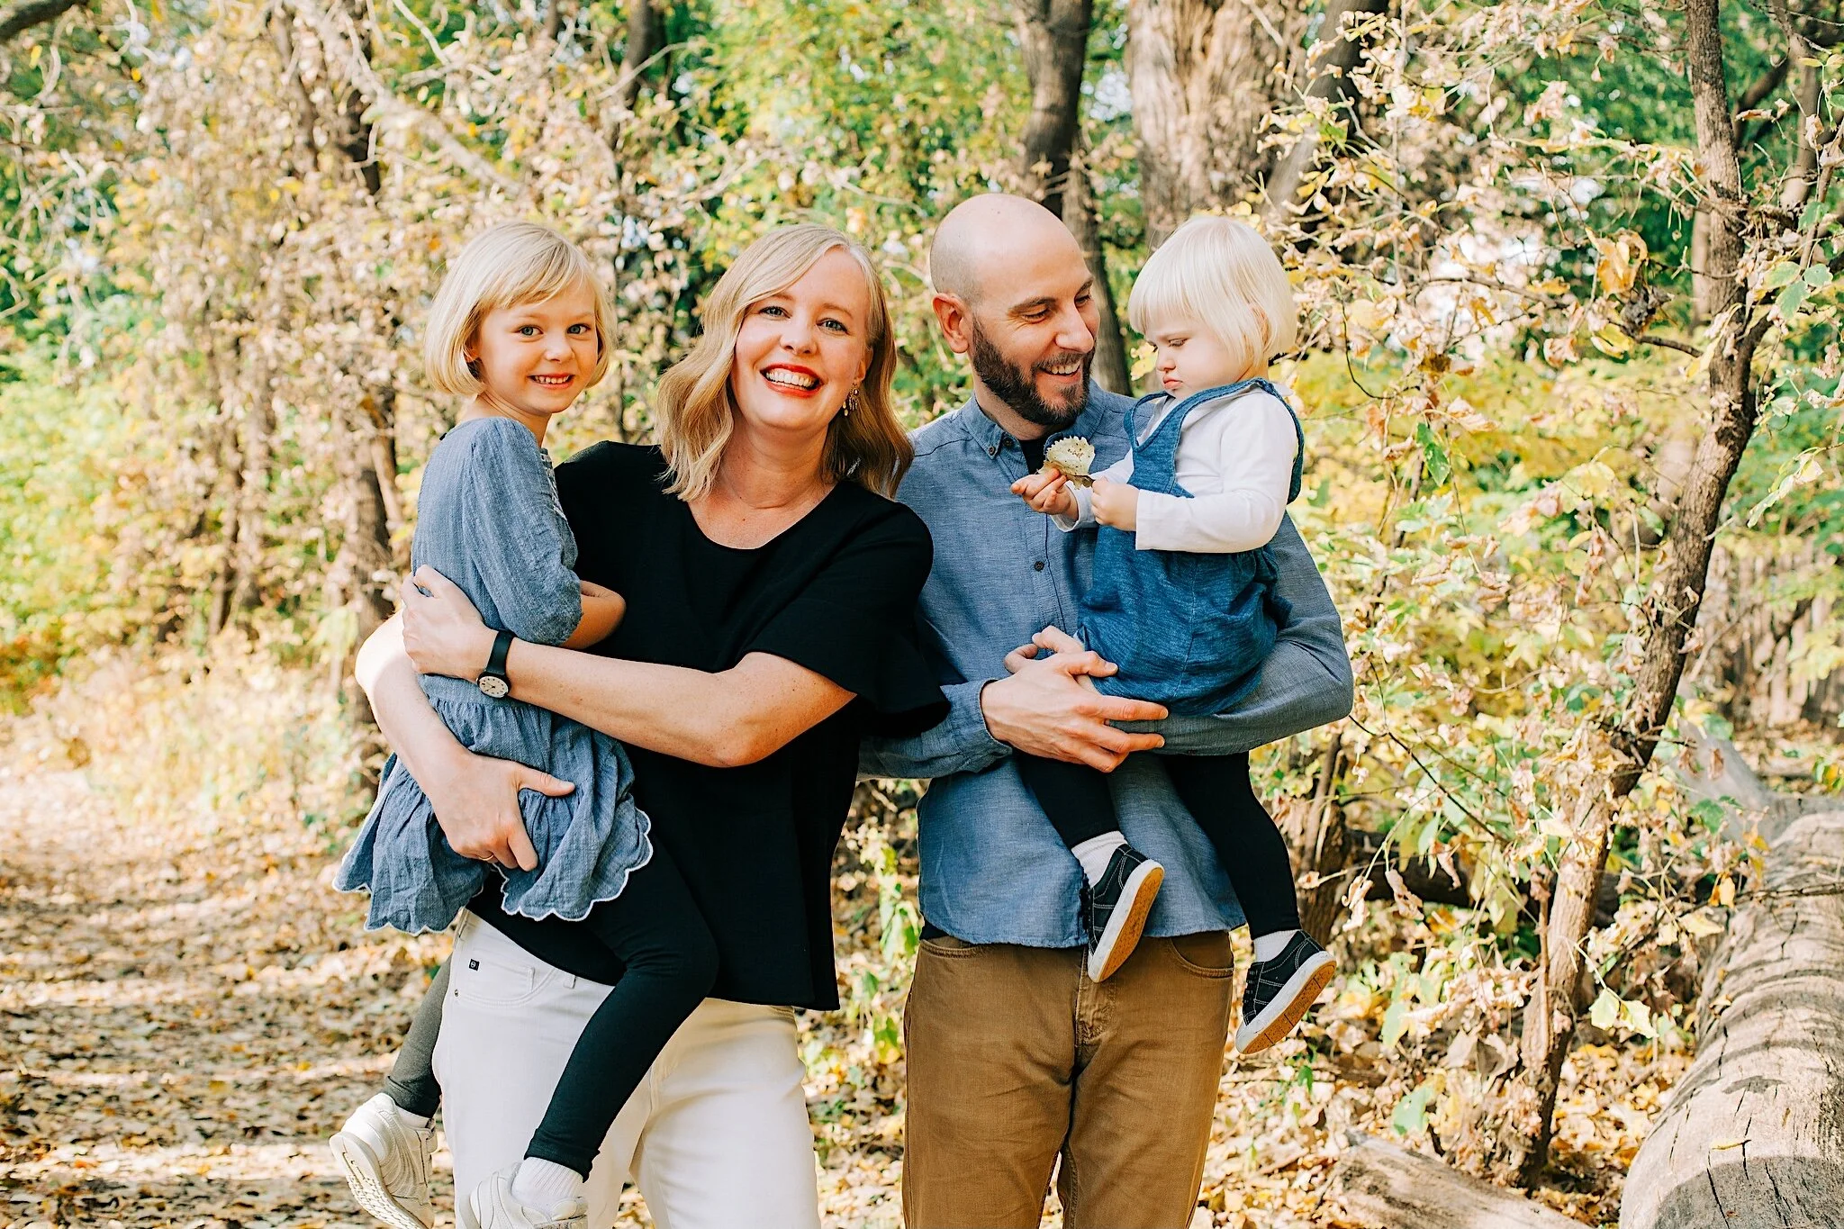
[[[1130, 400], [1090, 381], [1092, 276], [1044, 206], [981, 195], [940, 223], [935, 317], [972, 365], [974, 396], [915, 433], [898, 497], [928, 521], [935, 568], [922, 643], [950, 717], [869, 741], [861, 772], [928, 778], [920, 805], [922, 951], [904, 1015], [909, 1229], [1034, 1227], [1051, 1176], [1068, 1229], [1191, 1222], [1230, 1030], [1230, 931], [1241, 908], [1160, 754], [1230, 755], [1352, 708], [1339, 614], [1285, 520], [1271, 544], [1293, 614], [1230, 713], [1165, 717], [1105, 696], [1112, 663], [1075, 628], [1093, 536], [1011, 494], [1064, 433], [1095, 470], [1127, 451]], [[1012, 752], [1112, 772], [1125, 837], [1165, 866], [1145, 938], [1105, 982], [1086, 973], [1082, 872], [1020, 779]]]

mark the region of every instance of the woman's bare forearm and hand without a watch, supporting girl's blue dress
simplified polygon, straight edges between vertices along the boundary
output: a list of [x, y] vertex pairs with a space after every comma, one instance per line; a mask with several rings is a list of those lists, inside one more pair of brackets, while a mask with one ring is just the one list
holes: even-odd
[[417, 667], [404, 652], [402, 615], [391, 615], [371, 634], [358, 650], [354, 676], [371, 698], [371, 711], [391, 741], [391, 750], [435, 807], [435, 820], [454, 851], [500, 866], [537, 870], [538, 855], [526, 835], [518, 790], [533, 789], [561, 798], [575, 785], [461, 746], [422, 695]]

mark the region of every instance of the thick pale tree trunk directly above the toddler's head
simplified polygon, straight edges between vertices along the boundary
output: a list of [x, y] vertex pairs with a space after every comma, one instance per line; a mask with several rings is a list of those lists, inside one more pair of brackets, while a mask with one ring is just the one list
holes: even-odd
[[1276, 18], [1293, 26], [1300, 11], [1276, 0], [1129, 2], [1127, 72], [1151, 247], [1195, 210], [1254, 184], [1272, 68], [1287, 57]]

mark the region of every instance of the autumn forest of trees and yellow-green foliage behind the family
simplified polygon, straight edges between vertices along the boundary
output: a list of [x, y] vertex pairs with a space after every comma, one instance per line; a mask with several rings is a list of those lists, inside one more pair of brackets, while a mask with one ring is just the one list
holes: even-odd
[[[251, 910], [186, 940], [186, 993], [266, 986], [284, 1006], [251, 1036], [286, 1065], [315, 1037], [350, 1056], [280, 1124], [194, 1113], [216, 1093], [159, 1074], [184, 1013], [124, 1015], [101, 978], [66, 997], [89, 1048], [31, 1023], [46, 986], [101, 975], [52, 940], [20, 956], [28, 910], [0, 1183], [52, 1223], [155, 1216], [148, 1190], [230, 1218], [210, 1181], [111, 1192], [171, 1155], [306, 1157], [441, 960], [361, 936], [325, 872], [382, 761], [350, 660], [457, 411], [422, 387], [419, 330], [465, 236], [537, 217], [605, 271], [616, 354], [559, 424], [568, 455], [647, 435], [701, 297], [795, 219], [876, 252], [905, 422], [952, 409], [928, 240], [1016, 190], [1106, 287], [1110, 387], [1149, 367], [1117, 306], [1191, 212], [1265, 227], [1307, 319], [1282, 367], [1307, 426], [1293, 516], [1357, 708], [1258, 770], [1342, 975], [1300, 1037], [1232, 1058], [1199, 1223], [1311, 1220], [1350, 1126], [1612, 1220], [1759, 853], [1671, 765], [1709, 728], [1785, 789], [1844, 785], [1840, 39], [1829, 0], [0, 9], [6, 779], [81, 781], [184, 908]], [[802, 1024], [837, 1223], [894, 1223], [915, 798], [859, 789], [846, 1008]], [[101, 1071], [183, 1122], [109, 1122]], [[262, 1223], [352, 1216], [271, 1187]]]

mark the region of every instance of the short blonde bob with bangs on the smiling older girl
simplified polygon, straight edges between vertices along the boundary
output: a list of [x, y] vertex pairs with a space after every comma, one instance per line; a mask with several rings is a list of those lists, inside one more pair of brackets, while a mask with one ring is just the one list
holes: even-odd
[[533, 221], [502, 221], [481, 230], [452, 262], [430, 304], [422, 337], [422, 370], [430, 383], [455, 396], [479, 396], [479, 365], [467, 352], [479, 343], [479, 322], [489, 311], [555, 298], [572, 286], [586, 286], [596, 300], [596, 370], [585, 389], [609, 370], [609, 304], [603, 302], [596, 269], [581, 247]]

